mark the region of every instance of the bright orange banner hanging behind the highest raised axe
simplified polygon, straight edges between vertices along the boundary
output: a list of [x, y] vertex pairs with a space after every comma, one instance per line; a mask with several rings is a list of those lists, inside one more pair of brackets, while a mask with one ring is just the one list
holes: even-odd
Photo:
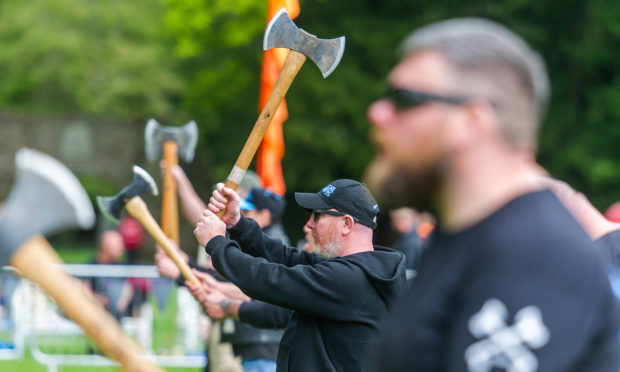
[[[291, 19], [295, 19], [299, 15], [300, 9], [297, 0], [268, 0], [267, 24], [282, 8], [286, 8]], [[259, 112], [265, 106], [267, 99], [269, 99], [278, 76], [280, 76], [280, 70], [282, 65], [284, 65], [287, 54], [288, 49], [284, 48], [269, 49], [263, 54], [258, 98]], [[288, 110], [286, 102], [282, 100], [261, 142], [256, 160], [256, 172], [263, 182], [263, 187], [269, 188], [280, 195], [284, 195], [286, 192], [286, 184], [284, 183], [284, 175], [282, 173], [282, 158], [284, 157], [282, 124], [286, 119], [288, 119]]]

